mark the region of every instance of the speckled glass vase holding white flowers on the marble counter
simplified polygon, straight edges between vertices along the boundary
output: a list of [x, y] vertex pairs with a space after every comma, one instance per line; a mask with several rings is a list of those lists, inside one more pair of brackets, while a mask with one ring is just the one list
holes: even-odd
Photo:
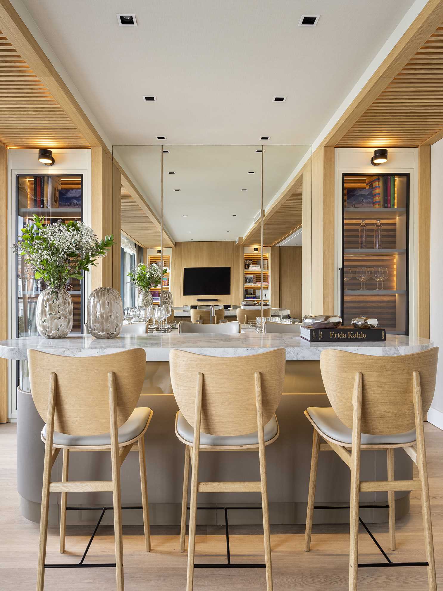
[[69, 335], [73, 322], [72, 299], [64, 289], [48, 287], [38, 296], [35, 313], [37, 330], [47, 339], [63, 339]]

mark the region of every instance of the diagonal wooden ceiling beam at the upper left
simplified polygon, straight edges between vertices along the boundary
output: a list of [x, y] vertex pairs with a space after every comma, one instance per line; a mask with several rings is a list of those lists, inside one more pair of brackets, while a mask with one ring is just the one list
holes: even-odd
[[110, 151], [99, 132], [89, 121], [82, 107], [57, 73], [53, 64], [21, 20], [9, 0], [0, 0], [0, 23], [2, 32], [8, 37], [32, 72], [44, 84], [58, 105], [61, 106], [79, 132], [92, 147], [101, 147], [111, 157]]

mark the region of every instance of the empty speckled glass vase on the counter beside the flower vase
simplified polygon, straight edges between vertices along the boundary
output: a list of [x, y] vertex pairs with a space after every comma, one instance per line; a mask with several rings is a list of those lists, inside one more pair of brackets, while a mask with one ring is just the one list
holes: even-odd
[[113, 339], [123, 326], [122, 298], [112, 287], [99, 287], [87, 300], [87, 327], [96, 339]]

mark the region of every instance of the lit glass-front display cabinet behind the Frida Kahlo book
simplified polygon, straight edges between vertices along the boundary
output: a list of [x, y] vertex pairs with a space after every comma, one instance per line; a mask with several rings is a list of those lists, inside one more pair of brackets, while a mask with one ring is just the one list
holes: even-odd
[[341, 317], [408, 335], [409, 174], [343, 174]]

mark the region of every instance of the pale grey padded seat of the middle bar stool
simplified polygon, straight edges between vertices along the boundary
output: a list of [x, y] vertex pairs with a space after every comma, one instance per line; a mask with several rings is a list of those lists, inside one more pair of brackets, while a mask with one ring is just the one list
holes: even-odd
[[[265, 445], [272, 443], [271, 440], [276, 439], [279, 434], [279, 427], [277, 417], [273, 415], [271, 420], [264, 427]], [[175, 434], [178, 439], [185, 444], [194, 443], [194, 429], [190, 426], [188, 421], [184, 418], [180, 411], [177, 413], [175, 419]], [[247, 433], [246, 435], [209, 435], [200, 431], [200, 446], [216, 445], [216, 446], [239, 446], [239, 445], [258, 445], [258, 431], [255, 433]]]

